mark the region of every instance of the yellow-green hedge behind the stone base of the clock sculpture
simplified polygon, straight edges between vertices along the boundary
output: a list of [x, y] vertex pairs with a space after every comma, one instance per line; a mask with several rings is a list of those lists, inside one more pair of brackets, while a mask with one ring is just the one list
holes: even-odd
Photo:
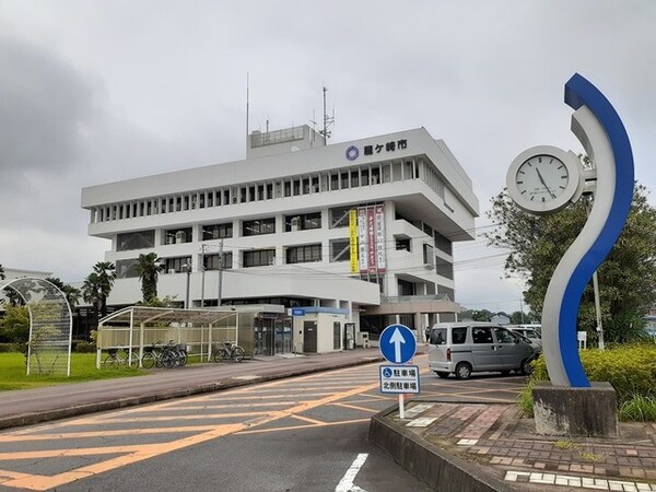
[[[656, 407], [656, 344], [613, 345], [604, 352], [590, 349], [579, 351], [579, 354], [590, 382], [610, 383], [617, 391], [620, 409], [632, 403], [624, 410], [625, 414], [651, 414], [649, 406]], [[542, 355], [534, 362], [534, 373], [518, 397], [518, 405], [529, 415], [532, 415], [532, 386], [539, 380], [549, 380]], [[656, 415], [648, 420], [656, 420]]]

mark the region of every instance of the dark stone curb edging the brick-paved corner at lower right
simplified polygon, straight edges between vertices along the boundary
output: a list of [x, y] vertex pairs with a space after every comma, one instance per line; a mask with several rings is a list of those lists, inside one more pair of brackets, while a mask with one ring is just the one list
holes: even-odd
[[515, 489], [481, 472], [476, 465], [420, 441], [389, 417], [398, 406], [389, 407], [370, 423], [368, 438], [407, 471], [435, 490], [449, 492], [512, 492]]

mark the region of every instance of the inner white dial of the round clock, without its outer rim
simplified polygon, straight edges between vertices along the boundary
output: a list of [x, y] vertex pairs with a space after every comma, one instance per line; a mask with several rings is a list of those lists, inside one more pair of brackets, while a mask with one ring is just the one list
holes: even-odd
[[515, 174], [517, 191], [526, 201], [555, 200], [567, 188], [570, 172], [558, 157], [548, 154], [526, 160]]

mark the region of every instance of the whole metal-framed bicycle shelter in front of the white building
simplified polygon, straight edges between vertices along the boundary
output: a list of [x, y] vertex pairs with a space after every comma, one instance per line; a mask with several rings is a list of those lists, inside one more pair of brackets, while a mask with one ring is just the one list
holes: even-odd
[[101, 367], [103, 351], [121, 349], [129, 359], [138, 351], [141, 360], [145, 347], [168, 341], [186, 344], [189, 358], [197, 356], [200, 361], [210, 361], [213, 344], [227, 341], [238, 343], [247, 356], [253, 356], [256, 314], [256, 311], [233, 306], [212, 309], [126, 307], [98, 321], [96, 367]]

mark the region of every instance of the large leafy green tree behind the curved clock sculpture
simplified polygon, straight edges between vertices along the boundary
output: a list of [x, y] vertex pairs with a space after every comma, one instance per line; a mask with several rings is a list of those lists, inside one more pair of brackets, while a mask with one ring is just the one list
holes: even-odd
[[[492, 246], [509, 249], [505, 261], [508, 277], [526, 282], [525, 301], [542, 311], [551, 276], [587, 219], [587, 203], [577, 203], [550, 215], [523, 212], [507, 191], [492, 199], [488, 216], [496, 226], [485, 234]], [[625, 341], [643, 332], [644, 314], [656, 301], [656, 209], [647, 202], [644, 186], [636, 185], [622, 234], [599, 267], [600, 304], [608, 341]], [[578, 329], [595, 333], [591, 282], [578, 312]]]

